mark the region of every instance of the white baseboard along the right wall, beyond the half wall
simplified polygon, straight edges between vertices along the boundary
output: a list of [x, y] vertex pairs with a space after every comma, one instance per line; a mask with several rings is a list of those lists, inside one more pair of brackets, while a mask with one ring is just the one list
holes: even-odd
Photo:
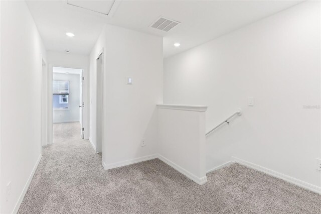
[[297, 186], [300, 186], [300, 187], [303, 187], [305, 189], [311, 190], [311, 191], [316, 192], [318, 194], [321, 194], [321, 187], [319, 187], [319, 186], [315, 186], [315, 185], [307, 183], [305, 181], [290, 177], [288, 175], [284, 175], [282, 173], [273, 171], [271, 169], [265, 168], [263, 166], [259, 166], [257, 164], [254, 164], [254, 163], [251, 163], [251, 162], [248, 162], [248, 161], [236, 158], [236, 157], [232, 157], [232, 161], [237, 162], [239, 164], [242, 164], [244, 166], [247, 166], [249, 168], [255, 169], [257, 171], [264, 172], [266, 174], [269, 174], [269, 175], [272, 175], [274, 177], [280, 178], [280, 179], [285, 180], [285, 181], [287, 181], [289, 183], [293, 183], [293, 184], [295, 184]]

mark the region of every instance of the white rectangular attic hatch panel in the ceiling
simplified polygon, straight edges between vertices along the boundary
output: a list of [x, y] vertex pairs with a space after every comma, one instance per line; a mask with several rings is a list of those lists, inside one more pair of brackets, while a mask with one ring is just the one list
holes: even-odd
[[112, 1], [79, 1], [67, 0], [67, 5], [84, 9], [90, 12], [99, 13], [101, 15], [110, 16], [119, 5], [119, 0]]

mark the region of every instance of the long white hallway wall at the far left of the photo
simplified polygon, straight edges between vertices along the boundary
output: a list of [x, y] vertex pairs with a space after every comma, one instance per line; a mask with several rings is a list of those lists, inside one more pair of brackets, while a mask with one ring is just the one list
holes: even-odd
[[2, 1], [0, 14], [0, 212], [11, 213], [19, 207], [41, 158], [41, 72], [46, 52], [24, 1]]

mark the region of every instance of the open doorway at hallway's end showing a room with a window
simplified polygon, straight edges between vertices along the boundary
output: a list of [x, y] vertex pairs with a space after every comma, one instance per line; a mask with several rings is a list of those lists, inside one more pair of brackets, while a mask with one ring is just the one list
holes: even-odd
[[53, 67], [53, 143], [84, 138], [82, 69]]

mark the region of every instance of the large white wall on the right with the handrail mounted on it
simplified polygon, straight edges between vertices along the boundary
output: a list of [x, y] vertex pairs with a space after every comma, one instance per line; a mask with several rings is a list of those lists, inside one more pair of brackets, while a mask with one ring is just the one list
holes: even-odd
[[[164, 61], [164, 103], [208, 105], [207, 170], [231, 156], [321, 186], [320, 3], [304, 2]], [[182, 44], [184, 45], [184, 44]], [[255, 105], [248, 106], [253, 96]]]

